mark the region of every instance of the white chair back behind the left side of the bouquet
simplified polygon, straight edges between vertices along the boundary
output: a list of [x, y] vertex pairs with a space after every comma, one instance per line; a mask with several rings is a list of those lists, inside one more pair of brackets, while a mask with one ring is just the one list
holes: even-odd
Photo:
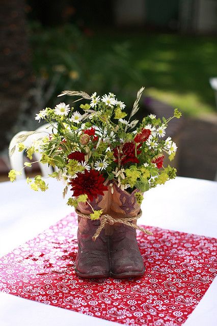
[[[30, 147], [32, 145], [32, 143], [34, 141], [37, 141], [39, 138], [41, 137], [45, 137], [46, 134], [48, 133], [52, 133], [53, 127], [50, 124], [44, 124], [43, 126], [39, 127], [38, 129], [36, 129], [36, 131], [40, 131], [37, 133], [34, 133], [32, 135], [30, 135], [24, 142], [23, 144], [26, 147]], [[15, 134], [15, 136], [12, 138], [9, 148], [12, 148], [15, 144], [16, 144], [16, 138], [18, 135], [21, 135], [22, 133], [25, 133], [26, 131], [20, 131], [17, 134]], [[16, 171], [20, 171], [23, 168], [23, 154], [24, 154], [24, 150], [21, 152], [18, 152], [17, 150], [13, 153], [12, 156], [9, 156], [10, 159], [10, 165], [11, 168], [16, 170]], [[34, 153], [33, 154], [34, 157], [36, 158], [36, 160], [40, 160], [41, 159], [41, 154], [40, 153]], [[47, 177], [48, 174], [52, 173], [53, 170], [50, 166], [48, 166], [48, 164], [42, 164], [39, 162], [39, 166], [41, 169], [41, 175], [43, 177]], [[20, 179], [25, 179], [25, 169], [22, 170], [22, 174], [21, 175], [17, 175], [16, 180], [20, 180]]]

